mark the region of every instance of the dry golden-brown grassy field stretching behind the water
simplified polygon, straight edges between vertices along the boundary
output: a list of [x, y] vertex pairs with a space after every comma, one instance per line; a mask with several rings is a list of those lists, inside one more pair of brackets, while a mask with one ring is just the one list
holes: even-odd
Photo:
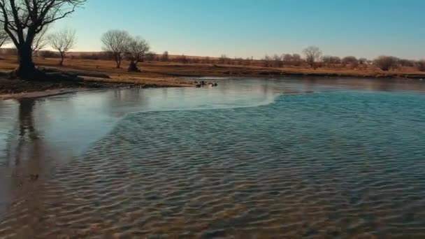
[[[260, 66], [236, 66], [224, 64], [180, 64], [175, 62], [142, 62], [139, 63], [140, 73], [128, 72], [127, 62], [122, 68], [115, 68], [114, 61], [66, 59], [64, 66], [58, 66], [58, 59], [34, 59], [37, 66], [56, 68], [61, 71], [96, 72], [109, 75], [110, 78], [85, 77], [83, 82], [73, 85], [73, 82], [26, 82], [7, 79], [4, 74], [0, 78], [0, 93], [31, 92], [45, 89], [67, 87], [182, 87], [194, 86], [192, 77], [196, 76], [252, 76], [279, 77], [285, 75], [300, 76], [352, 76], [352, 77], [397, 77], [425, 78], [425, 73], [415, 68], [399, 68], [395, 71], [381, 71], [374, 66], [362, 68], [306, 68], [291, 66], [284, 68]], [[16, 57], [0, 59], [0, 69], [3, 73], [13, 71], [17, 66]], [[182, 78], [183, 77], [183, 78]]]

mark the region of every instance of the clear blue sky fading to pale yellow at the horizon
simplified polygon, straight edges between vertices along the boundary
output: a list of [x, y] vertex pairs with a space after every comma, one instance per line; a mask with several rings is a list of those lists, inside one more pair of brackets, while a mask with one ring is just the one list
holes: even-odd
[[423, 0], [88, 0], [54, 29], [76, 29], [76, 51], [101, 50], [124, 29], [155, 52], [261, 58], [317, 45], [324, 55], [425, 58]]

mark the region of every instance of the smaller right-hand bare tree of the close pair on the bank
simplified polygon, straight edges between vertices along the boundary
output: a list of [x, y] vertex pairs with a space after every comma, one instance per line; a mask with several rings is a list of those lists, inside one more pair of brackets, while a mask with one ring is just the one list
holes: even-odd
[[126, 52], [127, 58], [130, 60], [129, 71], [140, 71], [137, 64], [143, 61], [143, 57], [150, 49], [149, 44], [140, 36], [131, 38]]

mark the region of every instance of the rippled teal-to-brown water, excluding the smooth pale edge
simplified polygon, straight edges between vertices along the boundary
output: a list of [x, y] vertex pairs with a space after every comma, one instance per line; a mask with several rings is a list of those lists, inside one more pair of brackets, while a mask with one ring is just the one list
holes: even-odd
[[131, 114], [16, 201], [0, 236], [424, 238], [423, 100]]

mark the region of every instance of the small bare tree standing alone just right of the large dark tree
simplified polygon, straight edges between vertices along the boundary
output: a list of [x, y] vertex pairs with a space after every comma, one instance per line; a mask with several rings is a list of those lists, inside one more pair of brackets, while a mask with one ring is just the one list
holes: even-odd
[[64, 58], [66, 54], [75, 45], [75, 30], [74, 29], [62, 29], [48, 36], [50, 46], [57, 50], [61, 55], [59, 66], [64, 65]]

